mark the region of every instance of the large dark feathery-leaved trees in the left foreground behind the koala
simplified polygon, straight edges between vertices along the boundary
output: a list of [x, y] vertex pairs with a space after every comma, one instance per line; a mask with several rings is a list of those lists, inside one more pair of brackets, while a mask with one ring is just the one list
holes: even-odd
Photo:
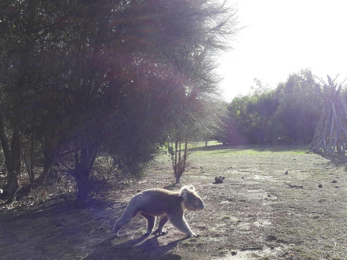
[[211, 135], [212, 55], [233, 14], [204, 0], [2, 1], [0, 197], [51, 177], [82, 201], [141, 179], [168, 136]]

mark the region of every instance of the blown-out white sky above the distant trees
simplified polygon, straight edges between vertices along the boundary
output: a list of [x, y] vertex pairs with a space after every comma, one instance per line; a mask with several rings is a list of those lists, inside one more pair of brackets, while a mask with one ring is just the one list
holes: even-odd
[[248, 94], [254, 78], [276, 88], [305, 68], [324, 80], [347, 77], [347, 1], [229, 1], [247, 27], [219, 60], [226, 101]]

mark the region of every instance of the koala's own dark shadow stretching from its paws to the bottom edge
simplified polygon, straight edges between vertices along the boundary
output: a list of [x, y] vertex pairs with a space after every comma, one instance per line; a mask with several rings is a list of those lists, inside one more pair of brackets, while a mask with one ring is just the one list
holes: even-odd
[[[146, 236], [126, 241], [120, 244], [112, 243], [115, 237], [107, 238], [99, 244], [93, 245], [94, 251], [90, 253], [86, 260], [92, 259], [134, 259], [134, 260], [152, 260], [152, 259], [174, 259], [180, 260], [178, 254], [167, 253], [177, 246], [180, 241], [186, 240], [188, 237], [177, 239], [166, 245], [160, 245], [158, 241], [159, 235], [150, 238]], [[120, 238], [121, 239], [121, 238]]]

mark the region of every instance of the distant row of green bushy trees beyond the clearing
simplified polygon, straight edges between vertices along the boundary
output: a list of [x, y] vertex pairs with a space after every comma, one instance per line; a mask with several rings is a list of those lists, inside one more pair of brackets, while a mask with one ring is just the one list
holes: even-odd
[[[311, 143], [323, 103], [310, 70], [290, 75], [269, 90], [257, 81], [252, 95], [235, 97], [227, 104], [223, 143], [231, 145]], [[346, 100], [346, 89], [341, 93]]]

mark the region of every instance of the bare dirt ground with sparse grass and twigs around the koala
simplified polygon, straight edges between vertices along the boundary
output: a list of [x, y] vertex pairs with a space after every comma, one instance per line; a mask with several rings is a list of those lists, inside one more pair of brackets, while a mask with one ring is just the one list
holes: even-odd
[[[67, 195], [47, 189], [1, 204], [0, 259], [347, 259], [346, 156], [305, 154], [307, 146], [192, 149], [193, 163], [177, 185], [163, 155], [136, 187], [90, 207], [71, 208]], [[218, 175], [226, 177], [221, 184], [214, 183]], [[169, 223], [168, 234], [144, 237], [140, 217], [120, 239], [112, 237], [138, 190], [190, 183], [205, 208], [185, 218], [200, 238]]]

